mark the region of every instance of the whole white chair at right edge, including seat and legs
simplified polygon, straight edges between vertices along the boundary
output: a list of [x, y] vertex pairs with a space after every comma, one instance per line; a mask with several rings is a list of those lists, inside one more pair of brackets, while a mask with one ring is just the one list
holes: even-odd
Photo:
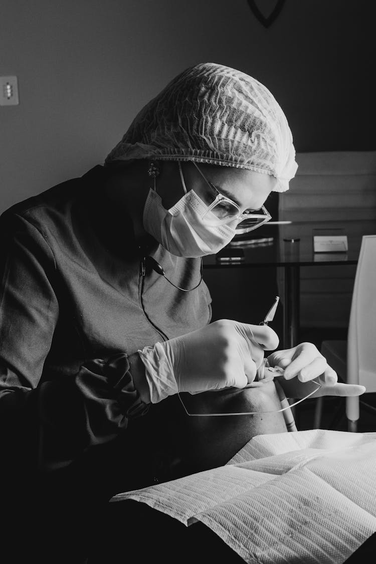
[[[366, 393], [376, 392], [376, 235], [362, 236], [347, 341], [323, 341], [321, 354], [339, 380], [365, 386]], [[323, 400], [316, 402], [315, 428], [320, 428]], [[376, 413], [359, 396], [346, 398], [348, 430], [353, 433], [357, 431], [360, 404]]]

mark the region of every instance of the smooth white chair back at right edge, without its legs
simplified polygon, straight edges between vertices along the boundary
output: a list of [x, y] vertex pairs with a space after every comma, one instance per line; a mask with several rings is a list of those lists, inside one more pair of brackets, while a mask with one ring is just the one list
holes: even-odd
[[376, 391], [376, 235], [364, 235], [347, 338], [347, 383]]

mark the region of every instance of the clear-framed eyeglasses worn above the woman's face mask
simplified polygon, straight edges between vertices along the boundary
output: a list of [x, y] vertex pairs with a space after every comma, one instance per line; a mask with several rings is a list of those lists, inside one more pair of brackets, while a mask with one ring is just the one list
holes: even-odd
[[[207, 210], [202, 216], [202, 219], [207, 224], [222, 225], [236, 221], [236, 232], [247, 233], [260, 227], [272, 218], [265, 206], [261, 206], [260, 210], [256, 211], [245, 210], [241, 212], [239, 206], [234, 201], [220, 193], [218, 188], [205, 177], [196, 162], [193, 161], [193, 164], [206, 183], [206, 187], [197, 186], [193, 190], [207, 205]], [[208, 187], [209, 190], [207, 190]]]

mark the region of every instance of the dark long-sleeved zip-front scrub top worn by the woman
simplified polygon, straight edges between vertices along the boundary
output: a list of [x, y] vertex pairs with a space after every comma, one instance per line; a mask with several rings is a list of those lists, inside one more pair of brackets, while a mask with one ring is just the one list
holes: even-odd
[[[151, 254], [176, 285], [192, 288], [200, 261], [151, 238], [139, 249], [126, 209], [105, 196], [106, 175], [95, 166], [0, 219], [2, 479], [14, 491], [20, 477], [34, 487], [41, 475], [52, 497], [72, 481], [78, 491], [93, 481], [101, 490], [110, 447], [122, 437], [126, 445], [130, 422], [148, 410], [127, 354], [210, 321], [204, 282], [182, 292], [154, 271], [140, 274], [141, 256]], [[122, 463], [137, 465], [124, 452]]]

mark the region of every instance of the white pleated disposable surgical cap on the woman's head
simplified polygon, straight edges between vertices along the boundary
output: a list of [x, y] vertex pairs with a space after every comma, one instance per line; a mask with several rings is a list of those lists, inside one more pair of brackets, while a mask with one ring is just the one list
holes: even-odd
[[105, 162], [207, 162], [271, 174], [284, 192], [298, 165], [280, 105], [255, 78], [215, 63], [184, 70], [138, 113]]

